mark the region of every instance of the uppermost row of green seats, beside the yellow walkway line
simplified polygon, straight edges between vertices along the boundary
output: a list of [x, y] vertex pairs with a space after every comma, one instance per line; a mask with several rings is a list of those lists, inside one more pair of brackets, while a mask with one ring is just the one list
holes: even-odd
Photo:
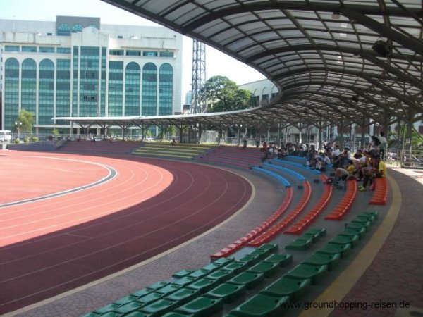
[[[326, 271], [333, 270], [341, 259], [348, 256], [350, 249], [355, 247], [376, 217], [377, 212], [360, 213], [324, 247], [224, 317], [283, 316], [292, 307], [290, 304], [305, 297], [312, 285], [324, 279]], [[326, 235], [326, 230], [312, 229], [306, 234], [322, 237]]]

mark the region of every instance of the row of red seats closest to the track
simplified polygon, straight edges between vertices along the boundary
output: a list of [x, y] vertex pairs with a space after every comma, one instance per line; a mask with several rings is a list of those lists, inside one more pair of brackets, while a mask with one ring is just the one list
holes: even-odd
[[250, 242], [251, 240], [253, 240], [255, 237], [257, 237], [262, 232], [264, 232], [264, 230], [267, 230], [271, 225], [276, 223], [276, 220], [278, 220], [278, 218], [280, 218], [283, 213], [285, 213], [286, 209], [288, 209], [288, 206], [290, 205], [292, 200], [293, 200], [293, 189], [287, 188], [285, 199], [283, 199], [281, 205], [278, 206], [278, 209], [276, 209], [276, 211], [271, 216], [269, 216], [269, 218], [264, 220], [264, 222], [261, 225], [259, 225], [257, 228], [248, 232], [247, 235], [240, 237], [240, 239], [229, 244], [227, 247], [224, 247], [220, 251], [217, 251], [215, 254], [212, 254], [212, 256], [210, 256], [212, 261], [214, 261], [215, 259], [221, 259], [226, 256], [230, 256], [231, 254], [234, 254], [235, 251], [238, 251], [238, 249], [244, 247], [247, 244], [247, 242]]

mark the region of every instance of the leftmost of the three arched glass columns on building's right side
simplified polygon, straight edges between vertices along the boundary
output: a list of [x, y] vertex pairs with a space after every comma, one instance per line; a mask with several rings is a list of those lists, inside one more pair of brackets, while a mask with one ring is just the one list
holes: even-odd
[[125, 70], [124, 116], [140, 116], [140, 78], [140, 66], [135, 62], [128, 63]]

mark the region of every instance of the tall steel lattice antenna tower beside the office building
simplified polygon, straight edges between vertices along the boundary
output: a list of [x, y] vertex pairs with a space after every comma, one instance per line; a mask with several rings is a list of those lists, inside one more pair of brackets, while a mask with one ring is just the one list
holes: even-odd
[[192, 100], [190, 113], [206, 112], [205, 87], [206, 44], [194, 39], [192, 44]]

